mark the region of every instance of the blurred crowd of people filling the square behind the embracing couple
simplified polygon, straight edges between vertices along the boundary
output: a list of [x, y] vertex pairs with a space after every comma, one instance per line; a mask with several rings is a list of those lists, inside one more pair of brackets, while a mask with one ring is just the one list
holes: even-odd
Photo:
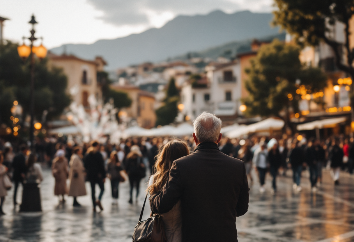
[[[126, 179], [130, 184], [128, 202], [133, 203], [134, 189], [137, 199], [141, 179], [147, 174], [154, 174], [156, 168], [161, 166], [159, 159], [163, 152], [159, 153], [159, 150], [163, 150], [171, 140], [171, 137], [143, 137], [122, 139], [118, 145], [110, 144], [109, 141], [105, 144], [93, 141], [78, 145], [73, 140], [57, 140], [51, 137], [37, 142], [33, 151], [26, 144], [15, 146], [10, 142], [0, 142], [0, 214], [4, 214], [2, 204], [7, 190], [11, 188], [8, 184], [6, 186], [5, 177], [13, 183], [15, 207], [18, 186], [22, 184], [20, 211], [41, 211], [39, 184], [43, 180], [41, 167], [46, 166], [52, 170], [55, 179], [54, 194], [59, 197], [59, 203], [65, 203], [65, 196], [70, 196], [73, 197], [74, 207], [81, 206], [77, 197], [87, 195], [85, 183], [89, 182], [93, 211], [96, 212], [96, 207], [102, 211], [101, 199], [106, 178], [110, 180], [112, 204], [118, 204], [119, 184]], [[193, 137], [184, 137], [181, 140], [189, 152], [196, 149]], [[280, 139], [253, 136], [249, 139], [222, 138], [218, 148], [224, 154], [244, 161], [251, 185], [255, 180], [253, 175], [258, 175], [259, 191], [262, 193], [265, 192], [265, 177], [269, 172], [272, 176], [270, 192], [274, 194], [277, 176], [286, 175], [289, 169], [292, 170], [293, 189], [296, 191], [302, 189], [301, 174], [305, 169], [309, 169], [313, 191], [321, 184], [324, 167], [331, 167], [333, 181], [338, 185], [341, 170], [353, 173], [353, 141], [353, 138], [344, 137], [306, 140], [285, 135]], [[96, 185], [100, 190], [97, 198]]]

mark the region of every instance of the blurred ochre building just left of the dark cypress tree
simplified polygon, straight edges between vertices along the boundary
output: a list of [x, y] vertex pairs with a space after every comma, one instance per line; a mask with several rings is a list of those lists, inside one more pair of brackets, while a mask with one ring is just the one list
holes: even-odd
[[135, 119], [140, 127], [155, 127], [154, 93], [140, 90], [133, 85], [112, 85], [111, 88], [116, 91], [126, 92], [131, 98], [131, 106], [125, 109], [128, 117]]

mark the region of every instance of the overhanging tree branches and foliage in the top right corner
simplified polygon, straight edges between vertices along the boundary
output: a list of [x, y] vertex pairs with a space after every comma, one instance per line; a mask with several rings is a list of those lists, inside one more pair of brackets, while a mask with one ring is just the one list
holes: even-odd
[[[274, 24], [295, 36], [304, 45], [317, 46], [324, 41], [335, 54], [339, 70], [354, 80], [354, 52], [349, 45], [349, 21], [354, 14], [353, 0], [275, 0]], [[345, 42], [332, 38], [336, 22], [344, 24]], [[347, 58], [342, 58], [342, 53]]]

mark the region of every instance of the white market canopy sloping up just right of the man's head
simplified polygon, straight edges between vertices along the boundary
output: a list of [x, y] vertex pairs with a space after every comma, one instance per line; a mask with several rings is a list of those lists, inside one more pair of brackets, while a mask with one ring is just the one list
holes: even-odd
[[269, 131], [269, 130], [280, 130], [283, 127], [284, 127], [284, 120], [268, 118], [258, 123], [253, 123], [251, 125], [247, 125], [247, 126], [240, 125], [235, 130], [230, 131], [227, 134], [227, 137], [234, 139], [249, 133], [256, 133], [256, 132]]

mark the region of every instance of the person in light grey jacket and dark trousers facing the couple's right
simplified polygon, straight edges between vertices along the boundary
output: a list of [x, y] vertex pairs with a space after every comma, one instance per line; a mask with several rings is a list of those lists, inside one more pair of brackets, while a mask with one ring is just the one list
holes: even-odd
[[267, 173], [267, 159], [268, 159], [268, 152], [267, 152], [267, 145], [265, 143], [261, 143], [259, 148], [255, 150], [255, 154], [253, 155], [253, 164], [255, 164], [259, 183], [261, 187], [259, 188], [259, 192], [263, 193], [265, 191], [264, 183], [265, 183], [265, 173]]

